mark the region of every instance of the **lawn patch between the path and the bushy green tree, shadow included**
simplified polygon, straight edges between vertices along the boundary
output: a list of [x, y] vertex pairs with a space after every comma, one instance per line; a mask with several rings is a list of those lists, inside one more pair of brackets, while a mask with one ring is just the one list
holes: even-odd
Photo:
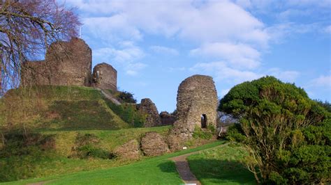
[[241, 147], [227, 145], [193, 154], [187, 160], [202, 184], [256, 184], [253, 173], [240, 163], [246, 154]]

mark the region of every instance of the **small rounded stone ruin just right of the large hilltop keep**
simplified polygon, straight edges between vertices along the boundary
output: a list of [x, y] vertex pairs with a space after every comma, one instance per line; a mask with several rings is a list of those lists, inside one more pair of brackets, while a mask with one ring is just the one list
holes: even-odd
[[107, 63], [100, 63], [93, 70], [93, 85], [96, 88], [117, 90], [117, 71]]

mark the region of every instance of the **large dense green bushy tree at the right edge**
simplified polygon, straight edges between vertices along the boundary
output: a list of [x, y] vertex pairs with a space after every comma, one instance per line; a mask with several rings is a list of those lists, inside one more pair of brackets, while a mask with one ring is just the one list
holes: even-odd
[[245, 165], [258, 183], [330, 181], [330, 113], [302, 88], [274, 77], [244, 82], [220, 101], [240, 120], [229, 129], [247, 147]]

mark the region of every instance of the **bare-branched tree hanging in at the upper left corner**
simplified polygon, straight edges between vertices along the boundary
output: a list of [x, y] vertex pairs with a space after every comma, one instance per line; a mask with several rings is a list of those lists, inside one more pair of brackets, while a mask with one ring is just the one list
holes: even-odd
[[50, 43], [77, 35], [78, 26], [73, 9], [55, 0], [0, 1], [1, 93], [19, 86], [24, 62], [45, 54]]

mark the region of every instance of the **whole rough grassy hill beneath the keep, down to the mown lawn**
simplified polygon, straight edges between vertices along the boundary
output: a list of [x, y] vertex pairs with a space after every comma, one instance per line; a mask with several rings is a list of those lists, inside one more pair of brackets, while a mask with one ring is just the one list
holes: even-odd
[[10, 90], [0, 99], [0, 182], [131, 163], [112, 151], [147, 131], [170, 129], [133, 128], [139, 116], [134, 105], [112, 104], [94, 88]]

